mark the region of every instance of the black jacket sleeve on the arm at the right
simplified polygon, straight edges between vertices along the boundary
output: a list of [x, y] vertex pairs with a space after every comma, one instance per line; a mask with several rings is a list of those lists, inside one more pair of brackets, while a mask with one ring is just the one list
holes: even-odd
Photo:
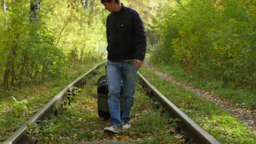
[[133, 17], [133, 30], [135, 35], [135, 59], [143, 61], [146, 54], [147, 37], [143, 21], [137, 12]]

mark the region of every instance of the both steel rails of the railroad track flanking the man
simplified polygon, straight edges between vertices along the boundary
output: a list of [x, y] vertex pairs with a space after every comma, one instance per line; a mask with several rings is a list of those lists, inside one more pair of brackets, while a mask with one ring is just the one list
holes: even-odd
[[[85, 77], [91, 74], [95, 74], [99, 67], [105, 64], [101, 63], [91, 70], [86, 72], [81, 77], [77, 78], [75, 81], [66, 86], [61, 92], [51, 99], [42, 109], [40, 109], [35, 115], [33, 115], [27, 123], [22, 125], [16, 132], [13, 133], [8, 139], [6, 139], [3, 144], [26, 144], [28, 143], [28, 137], [25, 135], [27, 133], [27, 124], [37, 123], [38, 120], [43, 119], [48, 115], [56, 112], [56, 107], [64, 104], [64, 99], [68, 97], [67, 93], [72, 93], [75, 87], [80, 87], [85, 84]], [[157, 101], [161, 107], [171, 116], [173, 119], [179, 119], [176, 123], [179, 124], [181, 131], [184, 131], [192, 142], [196, 144], [219, 144], [216, 139], [204, 131], [199, 125], [197, 125], [193, 120], [191, 120], [187, 115], [185, 115], [178, 107], [176, 107], [171, 101], [169, 101], [162, 93], [160, 93], [149, 81], [138, 72], [138, 77], [142, 87], [147, 91], [148, 95]]]

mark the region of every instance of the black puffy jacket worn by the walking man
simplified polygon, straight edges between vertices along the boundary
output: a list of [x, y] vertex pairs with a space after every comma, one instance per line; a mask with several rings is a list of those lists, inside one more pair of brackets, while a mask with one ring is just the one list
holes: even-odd
[[123, 61], [145, 58], [147, 38], [143, 22], [132, 8], [125, 7], [107, 17], [107, 59]]

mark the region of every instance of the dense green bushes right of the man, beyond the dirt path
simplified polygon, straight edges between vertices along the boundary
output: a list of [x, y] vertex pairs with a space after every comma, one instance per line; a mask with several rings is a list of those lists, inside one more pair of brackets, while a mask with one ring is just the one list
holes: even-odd
[[162, 43], [153, 58], [179, 63], [188, 72], [224, 87], [255, 90], [256, 2], [250, 0], [181, 0], [165, 9]]

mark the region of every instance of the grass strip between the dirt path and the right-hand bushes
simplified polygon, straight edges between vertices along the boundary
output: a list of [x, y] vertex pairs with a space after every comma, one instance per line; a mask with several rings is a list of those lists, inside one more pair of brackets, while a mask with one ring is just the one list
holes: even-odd
[[[166, 65], [156, 62], [154, 59], [152, 59], [150, 63], [152, 66], [159, 68], [161, 72], [172, 75], [176, 80], [189, 83], [187, 72], [185, 72], [178, 64]], [[191, 75], [189, 85], [206, 91], [213, 91], [218, 94], [220, 98], [232, 101], [234, 104], [246, 104], [250, 108], [256, 108], [256, 91], [225, 88], [223, 82], [220, 80], [208, 81], [197, 75]]]

